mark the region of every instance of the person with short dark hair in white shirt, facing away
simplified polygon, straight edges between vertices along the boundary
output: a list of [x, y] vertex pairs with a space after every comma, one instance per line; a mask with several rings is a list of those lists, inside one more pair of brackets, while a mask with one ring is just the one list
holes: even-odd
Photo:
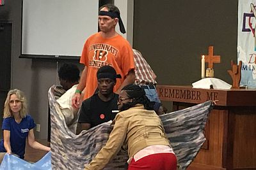
[[77, 108], [72, 107], [72, 97], [76, 92], [77, 85], [80, 79], [80, 71], [74, 64], [63, 64], [58, 70], [58, 76], [60, 79], [60, 85], [66, 90], [59, 99], [56, 99], [60, 105], [61, 113], [65, 118], [65, 122], [74, 134], [76, 134], [77, 120]]

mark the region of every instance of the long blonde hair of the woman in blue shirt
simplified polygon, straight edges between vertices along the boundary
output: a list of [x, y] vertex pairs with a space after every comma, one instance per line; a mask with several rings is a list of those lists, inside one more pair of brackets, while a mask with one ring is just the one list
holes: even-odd
[[20, 117], [24, 118], [27, 115], [27, 100], [24, 95], [24, 92], [20, 91], [19, 89], [10, 90], [7, 94], [6, 100], [4, 102], [4, 118], [6, 117], [13, 117], [12, 110], [10, 108], [10, 96], [15, 94], [17, 98], [21, 102], [21, 109], [20, 109]]

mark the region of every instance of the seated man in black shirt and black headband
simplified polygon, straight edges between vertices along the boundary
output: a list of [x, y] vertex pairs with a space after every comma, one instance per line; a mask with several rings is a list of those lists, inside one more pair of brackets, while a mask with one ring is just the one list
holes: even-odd
[[[111, 66], [100, 67], [97, 71], [98, 92], [83, 101], [79, 110], [78, 122], [81, 125], [81, 131], [114, 120], [118, 113], [118, 94], [113, 92], [116, 78], [121, 78], [121, 76], [116, 74], [115, 69]], [[77, 131], [77, 133], [81, 131]]]

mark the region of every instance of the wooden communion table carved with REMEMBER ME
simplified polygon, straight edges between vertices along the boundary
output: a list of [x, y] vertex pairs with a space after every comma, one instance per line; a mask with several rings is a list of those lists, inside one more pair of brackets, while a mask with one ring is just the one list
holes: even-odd
[[173, 101], [173, 111], [219, 100], [205, 126], [207, 140], [188, 170], [256, 169], [256, 90], [157, 85], [157, 93], [161, 101]]

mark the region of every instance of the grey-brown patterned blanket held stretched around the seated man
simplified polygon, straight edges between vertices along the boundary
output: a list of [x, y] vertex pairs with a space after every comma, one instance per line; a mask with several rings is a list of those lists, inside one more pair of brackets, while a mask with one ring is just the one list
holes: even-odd
[[[52, 169], [83, 169], [84, 164], [90, 163], [106, 145], [113, 127], [110, 122], [106, 122], [88, 131], [82, 131], [79, 135], [73, 134], [65, 124], [53, 89], [54, 86], [48, 92], [51, 110]], [[204, 127], [211, 108], [212, 102], [207, 101], [160, 116], [180, 169], [189, 166], [203, 145]], [[127, 152], [121, 150], [105, 169], [125, 169], [128, 159]]]

